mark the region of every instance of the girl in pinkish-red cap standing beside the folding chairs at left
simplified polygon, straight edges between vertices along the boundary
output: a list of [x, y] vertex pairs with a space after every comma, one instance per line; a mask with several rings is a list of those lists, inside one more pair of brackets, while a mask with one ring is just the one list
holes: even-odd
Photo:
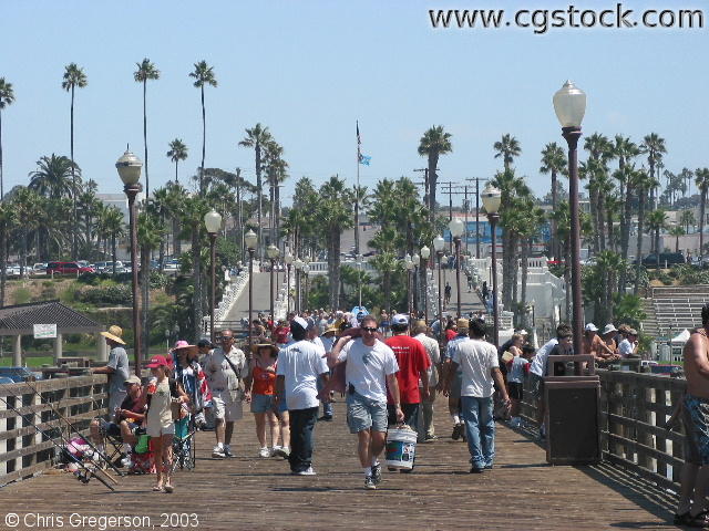
[[147, 435], [153, 442], [153, 458], [157, 482], [153, 487], [157, 492], [172, 492], [171, 481], [173, 461], [173, 437], [175, 425], [171, 404], [189, 402], [182, 386], [169, 379], [169, 365], [165, 356], [153, 356], [147, 364], [153, 379], [147, 385]]

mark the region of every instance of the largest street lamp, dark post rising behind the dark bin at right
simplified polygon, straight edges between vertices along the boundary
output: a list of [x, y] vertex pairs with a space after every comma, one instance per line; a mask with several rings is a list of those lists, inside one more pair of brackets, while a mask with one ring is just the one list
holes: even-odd
[[586, 94], [573, 82], [564, 83], [554, 94], [554, 111], [562, 125], [562, 136], [568, 144], [568, 197], [572, 251], [572, 304], [574, 354], [583, 354], [584, 306], [580, 293], [580, 232], [578, 212], [578, 138], [586, 113]]

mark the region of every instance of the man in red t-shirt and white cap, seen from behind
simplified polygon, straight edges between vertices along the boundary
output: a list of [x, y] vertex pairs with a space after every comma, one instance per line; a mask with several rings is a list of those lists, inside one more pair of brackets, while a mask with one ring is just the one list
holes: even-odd
[[[419, 420], [419, 409], [421, 398], [429, 397], [429, 377], [427, 369], [431, 366], [429, 355], [423, 343], [408, 335], [409, 317], [404, 314], [397, 314], [391, 319], [391, 331], [394, 335], [384, 343], [397, 356], [399, 372], [397, 381], [399, 383], [399, 394], [401, 397], [401, 409], [403, 410], [404, 424], [415, 430]], [[421, 391], [419, 392], [419, 381]], [[394, 403], [391, 395], [387, 393], [387, 408], [389, 410], [389, 424], [397, 424]]]

